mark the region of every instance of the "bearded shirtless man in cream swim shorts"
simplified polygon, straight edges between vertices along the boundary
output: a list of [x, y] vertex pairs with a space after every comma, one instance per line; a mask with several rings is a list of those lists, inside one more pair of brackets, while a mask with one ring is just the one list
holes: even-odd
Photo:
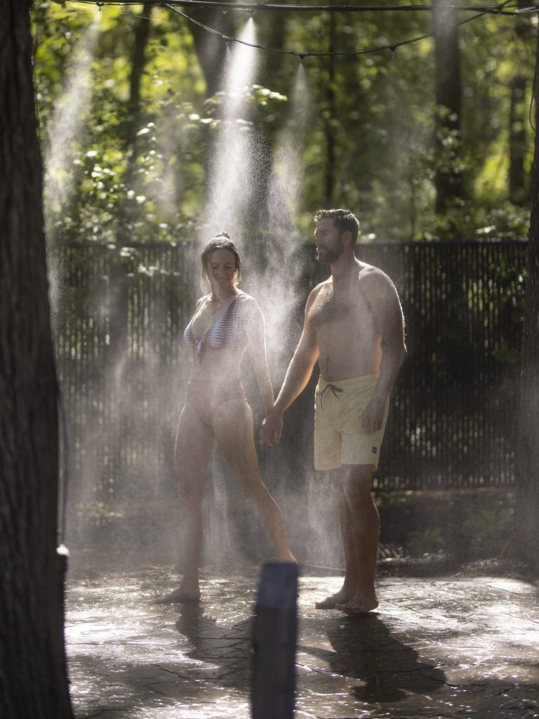
[[382, 270], [354, 256], [359, 222], [347, 209], [315, 215], [318, 259], [331, 277], [310, 293], [305, 326], [275, 407], [264, 419], [266, 444], [282, 432], [282, 415], [307, 385], [318, 359], [315, 469], [331, 470], [338, 493], [344, 585], [317, 603], [366, 613], [374, 591], [379, 516], [372, 500], [390, 390], [405, 356], [404, 320], [395, 285]]

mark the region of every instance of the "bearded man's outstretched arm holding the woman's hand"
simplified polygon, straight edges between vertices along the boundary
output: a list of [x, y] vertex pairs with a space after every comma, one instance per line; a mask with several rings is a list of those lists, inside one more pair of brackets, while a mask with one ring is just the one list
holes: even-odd
[[267, 417], [262, 422], [262, 434], [264, 444], [277, 444], [281, 439], [282, 432], [282, 415], [298, 395], [300, 395], [307, 385], [313, 367], [318, 359], [318, 342], [316, 341], [316, 333], [310, 326], [309, 310], [312, 306], [318, 288], [315, 288], [309, 295], [307, 306], [305, 307], [305, 324], [303, 332], [296, 347], [294, 356], [288, 365], [285, 381], [282, 383], [275, 405]]

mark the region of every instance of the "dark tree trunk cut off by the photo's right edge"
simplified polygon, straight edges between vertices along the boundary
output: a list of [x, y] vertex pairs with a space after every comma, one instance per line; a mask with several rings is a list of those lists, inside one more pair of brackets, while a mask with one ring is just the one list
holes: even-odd
[[[539, 67], [539, 35], [535, 56]], [[535, 72], [535, 97], [539, 77]], [[513, 554], [539, 569], [539, 105], [535, 103], [528, 280], [522, 337], [517, 441], [517, 507]]]

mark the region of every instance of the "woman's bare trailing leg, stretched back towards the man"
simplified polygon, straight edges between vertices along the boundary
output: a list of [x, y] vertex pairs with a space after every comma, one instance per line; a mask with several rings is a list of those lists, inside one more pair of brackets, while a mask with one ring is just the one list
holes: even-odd
[[213, 431], [221, 452], [244, 495], [257, 508], [260, 518], [282, 562], [295, 562], [288, 545], [285, 523], [277, 502], [260, 477], [254, 449], [253, 416], [245, 400], [234, 399], [219, 405], [213, 414]]

